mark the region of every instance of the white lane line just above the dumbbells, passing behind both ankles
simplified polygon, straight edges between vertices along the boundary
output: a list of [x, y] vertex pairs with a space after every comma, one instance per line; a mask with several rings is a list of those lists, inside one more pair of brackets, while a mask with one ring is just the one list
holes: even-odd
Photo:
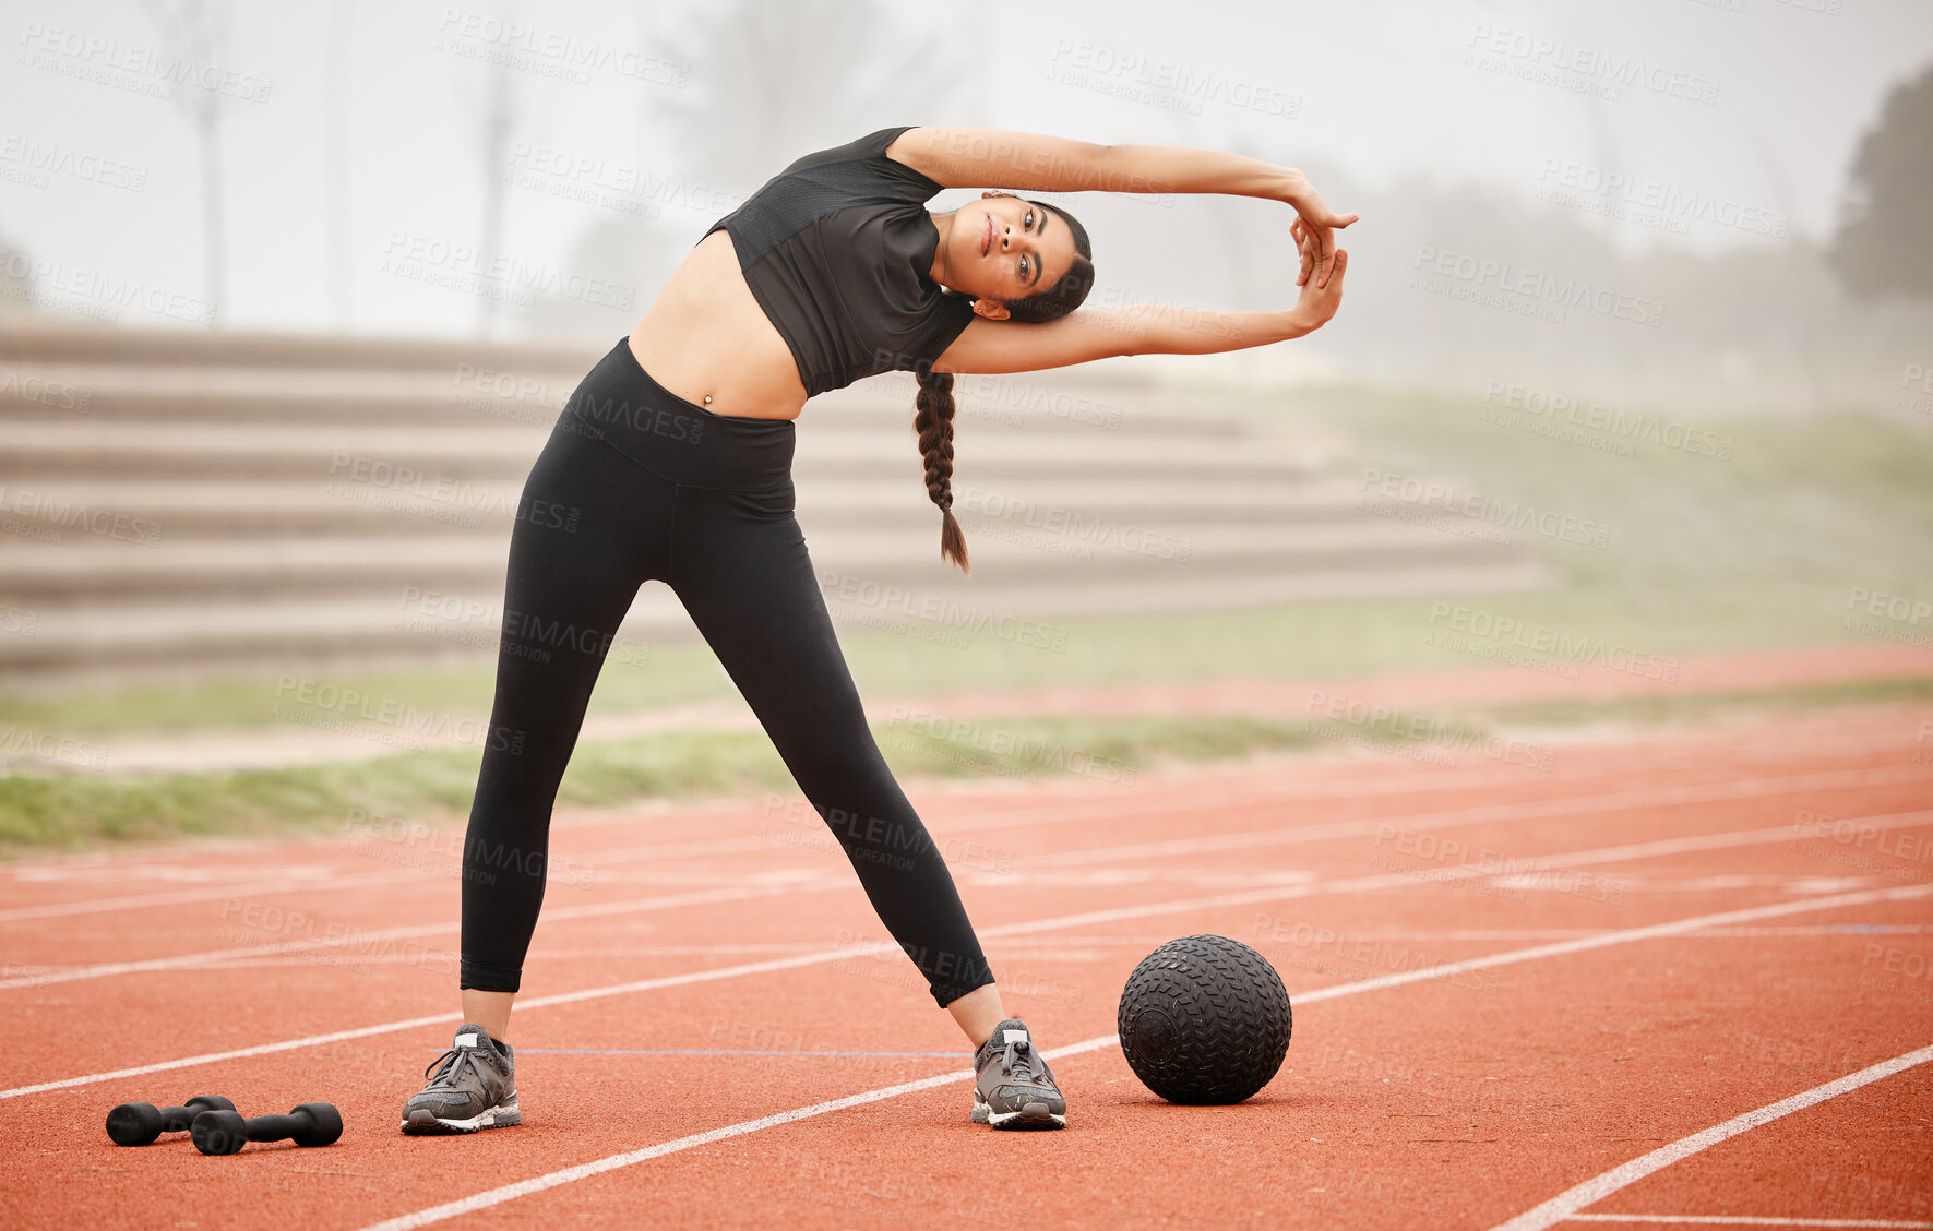
[[[1773, 825], [1773, 827], [1767, 827], [1767, 829], [1744, 829], [1744, 831], [1736, 831], [1736, 833], [1715, 833], [1715, 835], [1703, 835], [1703, 837], [1695, 837], [1695, 839], [1664, 839], [1664, 841], [1657, 841], [1657, 843], [1635, 843], [1635, 845], [1626, 845], [1626, 846], [1602, 846], [1602, 848], [1597, 848], [1597, 850], [1573, 850], [1573, 852], [1568, 852], [1568, 854], [1546, 856], [1543, 860], [1535, 860], [1533, 864], [1537, 864], [1537, 866], [1550, 866], [1550, 868], [1577, 868], [1577, 866], [1585, 866], [1585, 864], [1608, 864], [1608, 862], [1622, 862], [1622, 860], [1633, 860], [1633, 858], [1653, 858], [1653, 856], [1659, 856], [1659, 854], [1680, 854], [1684, 850], [1718, 850], [1718, 848], [1726, 848], [1726, 846], [1751, 846], [1751, 845], [1761, 845], [1761, 843], [1784, 841], [1788, 837], [1792, 837], [1792, 827], [1790, 825]], [[1001, 926], [995, 926], [995, 928], [982, 928], [980, 935], [982, 937], [1001, 937], [1001, 935], [1023, 935], [1023, 933], [1028, 933], [1028, 931], [1057, 931], [1061, 928], [1079, 928], [1082, 924], [1108, 924], [1108, 922], [1131, 920], [1131, 918], [1152, 918], [1152, 916], [1162, 916], [1162, 914], [1183, 914], [1183, 912], [1195, 912], [1195, 910], [1214, 910], [1214, 908], [1220, 908], [1220, 906], [1251, 906], [1251, 904], [1258, 904], [1258, 902], [1280, 902], [1280, 901], [1287, 901], [1287, 899], [1313, 897], [1313, 895], [1318, 895], [1318, 893], [1370, 893], [1370, 891], [1376, 891], [1376, 889], [1399, 889], [1399, 887], [1405, 887], [1405, 885], [1417, 885], [1417, 883], [1425, 883], [1425, 881], [1471, 879], [1471, 877], [1490, 875], [1490, 870], [1485, 870], [1485, 868], [1442, 868], [1442, 870], [1430, 870], [1430, 872], [1432, 872], [1432, 875], [1428, 875], [1428, 877], [1419, 877], [1413, 872], [1390, 872], [1390, 873], [1378, 873], [1378, 875], [1353, 877], [1353, 879], [1345, 879], [1345, 881], [1326, 881], [1326, 883], [1316, 883], [1316, 885], [1284, 885], [1280, 889], [1262, 889], [1262, 891], [1251, 891], [1251, 893], [1222, 893], [1222, 895], [1216, 895], [1216, 897], [1183, 899], [1183, 901], [1169, 901], [1169, 902], [1142, 902], [1139, 906], [1121, 906], [1121, 908], [1113, 908], [1113, 910], [1086, 910], [1086, 912], [1081, 912], [1081, 914], [1061, 914], [1061, 916], [1053, 916], [1053, 918], [1046, 918], [1046, 920], [1030, 920], [1030, 922], [1019, 922], [1019, 924], [1001, 924]], [[1863, 895], [1861, 893], [1850, 893], [1850, 895], [1836, 895], [1836, 897], [1831, 897], [1831, 899], [1807, 899], [1807, 901], [1846, 901], [1846, 902], [1875, 901], [1877, 902], [1877, 901], [1887, 901], [1889, 893], [1890, 895], [1898, 895], [1898, 893], [1914, 895], [1914, 893], [1921, 893], [1921, 891], [1929, 891], [1929, 889], [1933, 889], [1933, 885], [1919, 885], [1919, 887], [1912, 887], [1912, 889], [1904, 889], [1904, 891], [1900, 891], [1900, 889], [1871, 891], [1871, 893], [1863, 893]], [[1589, 937], [1589, 939], [1601, 941], [1602, 937]], [[584, 988], [580, 991], [563, 991], [563, 993], [557, 993], [557, 995], [530, 997], [530, 999], [520, 999], [518, 1007], [520, 1009], [541, 1009], [541, 1007], [547, 1007], [547, 1005], [570, 1005], [570, 1003], [576, 1003], [576, 1001], [601, 999], [601, 997], [609, 997], [609, 995], [630, 995], [634, 991], [655, 991], [659, 988], [680, 988], [680, 986], [688, 986], [688, 984], [704, 984], [704, 982], [715, 982], [715, 980], [725, 980], [725, 978], [738, 978], [738, 976], [744, 976], [744, 974], [769, 974], [769, 972], [775, 972], [775, 970], [794, 970], [798, 966], [818, 966], [818, 964], [829, 964], [829, 962], [837, 962], [837, 960], [845, 960], [845, 959], [872, 957], [872, 955], [880, 955], [880, 953], [897, 953], [897, 951], [899, 951], [899, 945], [893, 943], [893, 941], [874, 941], [874, 943], [860, 943], [860, 945], [843, 945], [843, 947], [833, 947], [833, 949], [822, 949], [822, 951], [816, 951], [816, 953], [802, 953], [802, 955], [791, 957], [791, 959], [777, 959], [777, 960], [769, 960], [769, 962], [746, 962], [746, 964], [738, 964], [738, 966], [719, 966], [719, 968], [713, 968], [713, 970], [696, 970], [696, 972], [671, 974], [671, 976], [653, 978], [653, 980], [638, 980], [638, 982], [628, 982], [628, 984], [611, 984], [611, 986], [603, 986], [603, 988]], [[408, 1018], [408, 1020], [400, 1020], [400, 1022], [383, 1022], [383, 1024], [375, 1024], [375, 1026], [360, 1026], [360, 1028], [354, 1028], [354, 1030], [338, 1030], [338, 1032], [332, 1032], [332, 1034], [315, 1034], [315, 1036], [307, 1036], [307, 1038], [282, 1040], [278, 1044], [257, 1044], [253, 1047], [236, 1047], [232, 1051], [211, 1051], [211, 1053], [205, 1053], [205, 1055], [189, 1055], [189, 1057], [182, 1057], [182, 1059], [174, 1059], [174, 1061], [157, 1061], [153, 1065], [139, 1065], [139, 1067], [133, 1067], [133, 1069], [116, 1069], [112, 1073], [93, 1073], [93, 1074], [87, 1074], [87, 1076], [68, 1076], [68, 1078], [52, 1080], [52, 1082], [39, 1082], [39, 1084], [33, 1084], [33, 1086], [17, 1086], [14, 1090], [0, 1090], [0, 1100], [4, 1100], [4, 1098], [21, 1098], [21, 1096], [27, 1096], [27, 1094], [41, 1094], [44, 1090], [64, 1090], [64, 1088], [70, 1088], [70, 1086], [87, 1086], [87, 1084], [93, 1084], [93, 1082], [104, 1082], [104, 1080], [114, 1080], [114, 1078], [124, 1078], [124, 1076], [139, 1076], [139, 1074], [145, 1074], [145, 1073], [164, 1073], [164, 1071], [170, 1071], [170, 1069], [189, 1069], [189, 1067], [195, 1067], [195, 1065], [211, 1065], [211, 1063], [226, 1061], [226, 1059], [244, 1059], [244, 1057], [251, 1057], [251, 1055], [269, 1055], [269, 1053], [274, 1053], [274, 1051], [292, 1051], [296, 1047], [309, 1047], [309, 1045], [317, 1045], [317, 1044], [334, 1044], [334, 1042], [342, 1042], [342, 1040], [350, 1040], [350, 1038], [365, 1038], [365, 1036], [371, 1036], [371, 1034], [389, 1034], [389, 1032], [394, 1032], [394, 1030], [410, 1030], [410, 1028], [416, 1028], [416, 1026], [427, 1026], [427, 1024], [437, 1024], [437, 1022], [454, 1022], [454, 1020], [458, 1020], [458, 1015], [447, 1013], [447, 1015], [435, 1015], [435, 1016]]]

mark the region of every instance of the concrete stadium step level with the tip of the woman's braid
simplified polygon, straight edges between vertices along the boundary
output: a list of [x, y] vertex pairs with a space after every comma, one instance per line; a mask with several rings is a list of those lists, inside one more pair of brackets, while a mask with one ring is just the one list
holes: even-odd
[[[1195, 526], [1185, 533], [1096, 524], [1088, 535], [980, 524], [968, 530], [974, 578], [984, 587], [1053, 576], [1137, 576], [1150, 586], [1185, 584], [1210, 572], [1249, 568], [1417, 566], [1496, 560], [1517, 555], [1496, 531], [1471, 522], [1444, 533], [1390, 518], [1282, 526]], [[54, 605], [135, 599], [211, 599], [290, 593], [396, 593], [404, 587], [503, 593], [505, 535], [334, 539], [207, 539], [174, 543], [21, 541], [0, 551], [0, 578], [15, 603]], [[936, 568], [939, 531], [891, 526], [808, 531], [820, 576], [914, 580]]]

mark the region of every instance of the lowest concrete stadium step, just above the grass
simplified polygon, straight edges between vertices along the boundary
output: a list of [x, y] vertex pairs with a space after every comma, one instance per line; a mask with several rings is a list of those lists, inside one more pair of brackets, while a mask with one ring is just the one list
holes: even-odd
[[[1297, 574], [1226, 574], [1187, 586], [1137, 580], [1036, 584], [972, 591], [936, 578], [910, 589], [860, 587], [854, 599], [827, 587], [827, 609], [845, 632], [891, 632], [939, 645], [968, 634], [1024, 640], [1052, 649], [1067, 630], [1055, 620], [1156, 611], [1231, 611], [1278, 603], [1479, 595], [1550, 586], [1525, 558], [1419, 568], [1322, 568]], [[433, 593], [410, 599], [236, 601], [39, 613], [29, 638], [0, 640], [0, 669], [15, 678], [118, 680], [128, 669], [172, 673], [251, 671], [265, 676], [387, 663], [487, 665], [497, 657], [501, 593]], [[1419, 636], [1423, 630], [1419, 630]], [[700, 640], [678, 597], [649, 582], [638, 591], [611, 645], [613, 661], [644, 663], [651, 645]], [[273, 686], [273, 684], [265, 684]]]

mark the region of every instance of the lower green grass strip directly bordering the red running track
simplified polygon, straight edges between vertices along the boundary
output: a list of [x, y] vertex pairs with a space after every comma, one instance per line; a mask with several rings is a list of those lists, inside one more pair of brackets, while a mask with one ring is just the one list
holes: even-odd
[[[1881, 678], [1713, 694], [1519, 701], [1444, 717], [1390, 713], [1374, 725], [1222, 717], [943, 719], [874, 725], [895, 775], [1046, 779], [1084, 775], [1131, 787], [1162, 761], [1233, 761], [1338, 738], [1419, 750], [1479, 744], [1496, 729], [1599, 721], [1678, 721], [1742, 709], [1933, 700], [1933, 678]], [[213, 835], [315, 835], [369, 817], [462, 817], [479, 754], [439, 750], [367, 761], [174, 775], [12, 775], [0, 779], [0, 854], [85, 850]], [[559, 802], [620, 808], [646, 798], [779, 792], [791, 773], [762, 732], [677, 732], [586, 740]]]

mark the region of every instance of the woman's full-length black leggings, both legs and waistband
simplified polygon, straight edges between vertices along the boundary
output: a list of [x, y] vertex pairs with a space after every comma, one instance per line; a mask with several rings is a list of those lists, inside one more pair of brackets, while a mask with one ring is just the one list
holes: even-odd
[[628, 338], [564, 404], [510, 531], [497, 700], [464, 841], [462, 988], [518, 989], [557, 785], [648, 580], [684, 603], [934, 999], [994, 982], [866, 727], [793, 518], [793, 435], [791, 419], [717, 415], [673, 394]]

